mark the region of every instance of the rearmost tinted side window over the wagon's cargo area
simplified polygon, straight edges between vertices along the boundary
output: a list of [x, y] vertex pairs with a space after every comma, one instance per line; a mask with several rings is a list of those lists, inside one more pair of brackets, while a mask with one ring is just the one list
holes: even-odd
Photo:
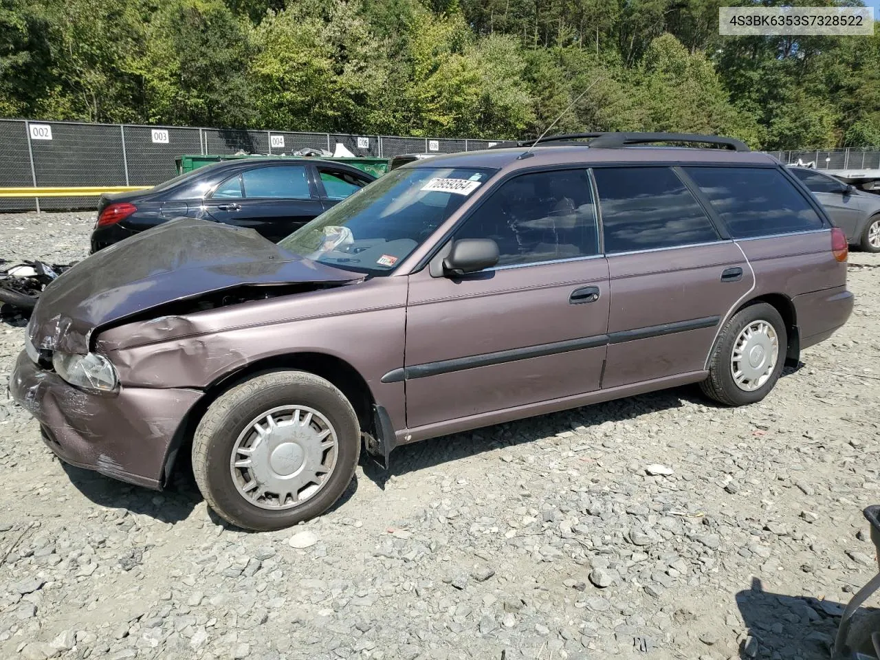
[[782, 172], [766, 167], [686, 167], [734, 238], [822, 229], [822, 219]]

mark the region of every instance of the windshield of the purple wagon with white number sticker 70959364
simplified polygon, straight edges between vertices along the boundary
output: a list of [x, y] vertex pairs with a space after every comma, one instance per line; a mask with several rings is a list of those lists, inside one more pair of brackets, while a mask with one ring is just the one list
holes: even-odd
[[459, 167], [394, 170], [279, 245], [327, 265], [384, 275], [422, 245], [492, 174]]

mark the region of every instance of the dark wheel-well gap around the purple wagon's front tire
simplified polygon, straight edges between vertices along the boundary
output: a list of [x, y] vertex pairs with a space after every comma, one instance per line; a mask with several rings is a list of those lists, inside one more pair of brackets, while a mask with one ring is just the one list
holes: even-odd
[[367, 385], [360, 372], [351, 364], [340, 357], [331, 356], [326, 353], [304, 352], [268, 356], [224, 374], [224, 376], [217, 378], [205, 388], [202, 398], [196, 401], [195, 405], [190, 408], [189, 412], [181, 420], [172, 437], [172, 442], [165, 452], [165, 467], [161, 477], [163, 485], [167, 485], [171, 479], [174, 466], [177, 464], [177, 458], [180, 456], [180, 451], [185, 451], [192, 444], [196, 426], [198, 426], [202, 416], [214, 401], [224, 392], [228, 392], [231, 388], [249, 378], [281, 370], [308, 371], [315, 376], [325, 378], [338, 387], [352, 407], [355, 408], [361, 429], [367, 432], [375, 432], [373, 429], [373, 406], [376, 400], [370, 390], [370, 385]]

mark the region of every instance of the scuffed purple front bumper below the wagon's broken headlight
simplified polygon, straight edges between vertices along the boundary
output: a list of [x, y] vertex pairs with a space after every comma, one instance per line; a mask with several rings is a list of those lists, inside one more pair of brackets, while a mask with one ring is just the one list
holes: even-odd
[[12, 398], [40, 422], [43, 440], [65, 463], [147, 488], [161, 488], [165, 458], [198, 390], [123, 387], [92, 394], [41, 369], [25, 352], [10, 380]]

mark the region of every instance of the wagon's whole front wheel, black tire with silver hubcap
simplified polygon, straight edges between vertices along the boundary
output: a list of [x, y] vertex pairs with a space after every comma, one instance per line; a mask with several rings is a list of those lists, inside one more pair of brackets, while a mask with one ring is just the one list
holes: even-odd
[[225, 392], [193, 438], [193, 473], [211, 509], [268, 531], [333, 506], [355, 473], [361, 429], [332, 383], [275, 371]]

